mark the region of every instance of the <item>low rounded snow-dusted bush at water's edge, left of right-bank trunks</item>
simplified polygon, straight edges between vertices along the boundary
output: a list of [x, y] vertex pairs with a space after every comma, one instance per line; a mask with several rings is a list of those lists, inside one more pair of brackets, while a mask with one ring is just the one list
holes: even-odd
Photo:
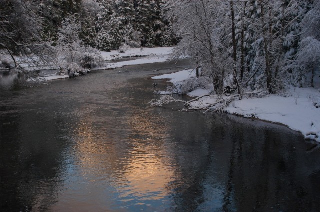
[[199, 78], [190, 77], [181, 83], [175, 83], [173, 92], [185, 95], [195, 88], [208, 89], [210, 92], [213, 91], [213, 80], [206, 76], [201, 76]]

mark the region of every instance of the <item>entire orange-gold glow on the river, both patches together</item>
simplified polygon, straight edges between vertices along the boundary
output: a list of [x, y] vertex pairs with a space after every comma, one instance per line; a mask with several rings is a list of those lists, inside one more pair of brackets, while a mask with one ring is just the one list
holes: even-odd
[[[88, 117], [79, 121], [73, 130], [76, 145], [73, 148], [75, 164], [72, 172], [75, 173], [73, 179], [65, 182], [65, 191], [59, 197], [64, 201], [59, 204], [70, 206], [83, 201], [84, 197], [79, 196], [76, 190], [89, 191], [89, 199], [105, 204], [119, 201], [120, 205], [149, 206], [150, 202], [165, 198], [174, 169], [165, 157], [169, 145], [165, 142], [167, 129], [161, 118], [155, 120], [143, 113], [130, 113], [120, 123], [122, 130], [125, 129], [120, 136], [115, 136], [119, 134], [119, 123], [110, 121], [105, 124], [103, 132], [101, 128], [96, 132], [94, 121]], [[70, 176], [70, 173], [66, 175]], [[75, 181], [81, 185], [74, 185]], [[110, 188], [112, 192], [106, 191]], [[103, 197], [95, 197], [101, 193]], [[76, 208], [83, 211], [83, 208]]]

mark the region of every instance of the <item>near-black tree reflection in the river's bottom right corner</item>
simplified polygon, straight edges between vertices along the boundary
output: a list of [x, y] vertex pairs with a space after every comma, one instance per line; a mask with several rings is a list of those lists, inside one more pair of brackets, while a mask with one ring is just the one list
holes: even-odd
[[267, 126], [244, 125], [232, 131], [234, 148], [224, 211], [312, 211], [318, 207], [312, 200], [319, 190], [312, 188], [303, 173], [305, 165], [315, 168], [307, 162], [303, 139], [286, 129], [282, 132]]

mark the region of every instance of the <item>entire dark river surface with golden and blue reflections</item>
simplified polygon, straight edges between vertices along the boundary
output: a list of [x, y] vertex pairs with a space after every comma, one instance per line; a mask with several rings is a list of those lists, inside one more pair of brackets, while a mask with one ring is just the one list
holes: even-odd
[[33, 88], [2, 77], [1, 212], [318, 211], [318, 144], [271, 123], [148, 105], [152, 70], [188, 66]]

